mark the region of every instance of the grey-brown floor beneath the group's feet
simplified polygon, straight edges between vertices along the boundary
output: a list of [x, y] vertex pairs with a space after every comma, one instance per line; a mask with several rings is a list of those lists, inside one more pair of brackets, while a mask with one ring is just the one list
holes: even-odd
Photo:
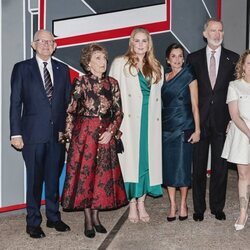
[[[236, 171], [229, 170], [224, 210], [226, 221], [216, 220], [209, 210], [204, 221], [193, 221], [191, 192], [188, 220], [168, 222], [168, 205], [166, 192], [157, 199], [148, 197], [149, 223], [130, 223], [127, 207], [102, 212], [101, 220], [108, 234], [97, 234], [94, 239], [88, 239], [83, 234], [83, 212], [62, 212], [62, 219], [71, 227], [67, 233], [47, 228], [44, 220], [42, 228], [46, 237], [43, 239], [31, 239], [25, 233], [25, 211], [1, 214], [0, 249], [250, 249], [250, 220], [242, 231], [236, 232], [233, 227], [239, 210]], [[44, 215], [44, 209], [42, 213]]]

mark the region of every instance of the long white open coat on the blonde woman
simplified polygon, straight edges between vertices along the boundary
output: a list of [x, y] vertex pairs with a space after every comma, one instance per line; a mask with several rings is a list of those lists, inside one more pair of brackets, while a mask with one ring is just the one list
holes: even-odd
[[[125, 182], [138, 182], [139, 147], [142, 93], [136, 69], [129, 72], [125, 57], [116, 58], [110, 69], [120, 86], [124, 118], [120, 130], [123, 132], [124, 153], [119, 154], [122, 174]], [[151, 85], [148, 110], [148, 154], [150, 186], [162, 184], [162, 129], [161, 129], [161, 86], [162, 79]], [[143, 156], [142, 156], [143, 157]]]

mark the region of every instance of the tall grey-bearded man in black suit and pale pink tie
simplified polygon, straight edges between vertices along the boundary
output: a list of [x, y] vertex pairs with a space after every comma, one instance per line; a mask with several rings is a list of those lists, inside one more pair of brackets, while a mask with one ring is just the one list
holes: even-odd
[[[227, 166], [221, 158], [230, 116], [226, 105], [229, 82], [234, 79], [239, 55], [222, 47], [223, 23], [208, 19], [203, 36], [207, 46], [191, 53], [187, 62], [192, 64], [198, 80], [201, 129], [205, 135], [194, 146], [193, 203], [195, 221], [204, 219], [206, 210], [206, 173], [209, 145], [211, 145], [211, 177], [209, 205], [218, 220], [225, 220]], [[203, 136], [202, 136], [203, 137]]]

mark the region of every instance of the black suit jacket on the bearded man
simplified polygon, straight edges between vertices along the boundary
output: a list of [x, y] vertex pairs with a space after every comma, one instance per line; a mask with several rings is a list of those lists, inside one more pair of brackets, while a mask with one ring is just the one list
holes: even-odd
[[194, 67], [198, 81], [199, 112], [201, 127], [205, 127], [208, 118], [212, 116], [217, 131], [225, 132], [230, 120], [226, 104], [229, 82], [234, 80], [235, 66], [239, 55], [222, 47], [214, 89], [208, 75], [206, 47], [188, 55], [187, 63]]

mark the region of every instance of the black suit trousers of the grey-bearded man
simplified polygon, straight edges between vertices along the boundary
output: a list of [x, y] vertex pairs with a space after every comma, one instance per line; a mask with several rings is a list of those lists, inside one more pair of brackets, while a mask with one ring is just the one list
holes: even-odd
[[218, 132], [210, 123], [206, 137], [194, 144], [193, 158], [193, 203], [195, 213], [206, 210], [207, 162], [211, 145], [211, 176], [209, 185], [209, 206], [211, 212], [221, 212], [225, 206], [227, 187], [227, 165], [221, 158], [225, 133]]

